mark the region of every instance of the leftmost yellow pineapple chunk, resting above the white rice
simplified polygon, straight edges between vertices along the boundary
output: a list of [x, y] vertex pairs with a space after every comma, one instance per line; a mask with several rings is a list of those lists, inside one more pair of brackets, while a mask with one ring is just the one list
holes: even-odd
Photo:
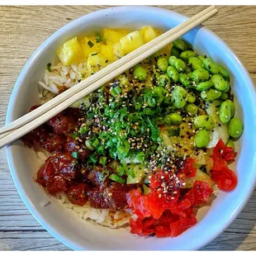
[[65, 65], [68, 66], [80, 60], [82, 48], [78, 43], [77, 37], [66, 41], [64, 45], [60, 46], [56, 54], [59, 57], [59, 60]]

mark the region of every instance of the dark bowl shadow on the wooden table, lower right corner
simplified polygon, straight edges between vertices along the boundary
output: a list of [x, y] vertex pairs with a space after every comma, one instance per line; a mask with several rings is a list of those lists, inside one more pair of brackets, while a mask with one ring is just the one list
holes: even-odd
[[211, 244], [201, 250], [255, 250], [256, 244], [254, 239], [251, 243], [244, 240], [250, 235], [251, 230], [256, 225], [256, 190], [244, 210], [239, 214], [235, 221], [220, 236], [214, 239]]

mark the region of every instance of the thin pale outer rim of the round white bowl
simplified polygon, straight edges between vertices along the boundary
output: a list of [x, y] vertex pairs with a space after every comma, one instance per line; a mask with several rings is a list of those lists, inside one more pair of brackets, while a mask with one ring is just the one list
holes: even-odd
[[[24, 65], [23, 69], [21, 70], [21, 73], [19, 77], [17, 78], [17, 82], [14, 85], [14, 88], [12, 90], [12, 94], [10, 97], [10, 101], [7, 107], [7, 117], [6, 117], [6, 124], [13, 121], [13, 111], [14, 111], [14, 103], [16, 102], [17, 93], [21, 89], [21, 84], [23, 83], [23, 80], [26, 78], [26, 73], [28, 73], [28, 70], [30, 69], [33, 62], [36, 61], [36, 59], [39, 57], [40, 53], [44, 50], [46, 45], [49, 45], [51, 41], [55, 40], [56, 37], [61, 36], [62, 34], [65, 34], [67, 30], [69, 30], [72, 27], [78, 26], [81, 22], [95, 19], [97, 17], [102, 17], [104, 15], [111, 15], [113, 12], [119, 13], [119, 12], [132, 12], [132, 11], [149, 11], [149, 12], [159, 12], [159, 13], [168, 13], [171, 14], [174, 18], [178, 21], [182, 22], [185, 21], [188, 17], [183, 16], [182, 14], [179, 14], [178, 12], [174, 12], [171, 10], [167, 10], [160, 7], [147, 7], [147, 6], [119, 6], [119, 7], [109, 7], [106, 9], [98, 10], [96, 12], [90, 12], [87, 15], [84, 15], [83, 17], [78, 17], [77, 19], [69, 22], [65, 26], [62, 26], [58, 31], [56, 31], [54, 34], [52, 34], [45, 42], [43, 42], [40, 47], [34, 52], [33, 55], [31, 55], [31, 58], [27, 60], [26, 64]], [[218, 40], [218, 44], [225, 48], [226, 54], [229, 56], [230, 59], [233, 59], [235, 61], [235, 64], [239, 67], [240, 73], [243, 73], [244, 81], [246, 81], [247, 87], [250, 92], [250, 97], [256, 99], [256, 92], [254, 88], [254, 82], [252, 78], [249, 76], [249, 72], [247, 69], [245, 69], [242, 62], [239, 60], [239, 58], [235, 55], [235, 53], [230, 49], [230, 46], [226, 45], [223, 40], [220, 39], [219, 36], [217, 36], [214, 32], [208, 30], [204, 26], [199, 26], [202, 31], [207, 33], [209, 36], [215, 38]], [[256, 111], [254, 111], [255, 113]], [[12, 155], [12, 146], [8, 145], [6, 147], [6, 153], [7, 153], [7, 163], [10, 169], [10, 173], [12, 175], [12, 180], [15, 183], [15, 186], [17, 187], [17, 191], [20, 194], [20, 197], [22, 201], [25, 203], [26, 207], [29, 211], [31, 211], [31, 214], [36, 218], [36, 220], [42, 225], [45, 230], [47, 230], [50, 235], [53, 235], [56, 239], [58, 239], [61, 243], [67, 245], [70, 249], [74, 250], [85, 250], [82, 248], [79, 244], [74, 242], [73, 240], [70, 240], [68, 237], [60, 234], [58, 231], [55, 230], [53, 226], [48, 225], [47, 221], [44, 219], [43, 216], [40, 215], [39, 211], [36, 211], [36, 208], [32, 205], [29, 197], [26, 195], [25, 191], [23, 190], [23, 187], [21, 185], [21, 182], [17, 178], [17, 170], [13, 166], [13, 162], [15, 159]], [[251, 183], [250, 187], [247, 187], [247, 193], [246, 198], [244, 198], [244, 201], [240, 201], [238, 205], [236, 206], [235, 210], [233, 211], [232, 215], [230, 216], [229, 220], [226, 221], [225, 225], [221, 225], [218, 230], [216, 230], [215, 234], [209, 235], [207, 238], [202, 239], [200, 244], [195, 244], [192, 250], [200, 249], [206, 244], [209, 244], [213, 239], [216, 239], [218, 235], [220, 235], [230, 224], [235, 220], [235, 218], [239, 215], [240, 211], [243, 210], [246, 203], [249, 201], [249, 198], [251, 197], [252, 193], [254, 192], [254, 187], [256, 185], [256, 173], [254, 175], [254, 182]]]

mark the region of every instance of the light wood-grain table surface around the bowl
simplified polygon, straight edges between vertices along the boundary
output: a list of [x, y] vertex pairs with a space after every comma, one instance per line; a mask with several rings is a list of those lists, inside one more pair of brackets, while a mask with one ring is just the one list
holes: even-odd
[[[0, 7], [0, 126], [14, 83], [27, 59], [52, 33], [70, 21], [106, 6]], [[205, 7], [165, 7], [192, 16]], [[218, 7], [206, 26], [235, 51], [256, 84], [256, 7]], [[256, 250], [256, 191], [238, 218], [205, 250]], [[0, 152], [0, 251], [68, 250], [51, 236], [21, 201]]]

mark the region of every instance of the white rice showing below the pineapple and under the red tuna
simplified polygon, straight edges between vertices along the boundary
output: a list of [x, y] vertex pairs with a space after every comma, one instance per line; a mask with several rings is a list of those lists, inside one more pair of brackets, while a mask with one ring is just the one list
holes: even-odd
[[[45, 103], [49, 101], [55, 94], [59, 93], [61, 88], [71, 88], [78, 83], [78, 80], [84, 78], [86, 71], [86, 63], [79, 63], [78, 65], [72, 64], [71, 66], [64, 66], [59, 62], [55, 66], [50, 67], [52, 72], [45, 70], [40, 85], [40, 98], [41, 102]], [[47, 90], [45, 96], [44, 90]], [[45, 150], [36, 152], [36, 156], [40, 159], [40, 163], [44, 164], [45, 159], [48, 157], [48, 153]], [[50, 196], [51, 197], [51, 196]], [[59, 200], [59, 203], [66, 206], [69, 211], [73, 211], [79, 218], [83, 220], [93, 220], [99, 225], [108, 226], [112, 229], [128, 225], [130, 222], [131, 213], [127, 210], [122, 211], [109, 211], [107, 209], [95, 209], [86, 204], [85, 206], [76, 206], [69, 202], [64, 193], [55, 197]], [[135, 216], [133, 216], [135, 217]]]

